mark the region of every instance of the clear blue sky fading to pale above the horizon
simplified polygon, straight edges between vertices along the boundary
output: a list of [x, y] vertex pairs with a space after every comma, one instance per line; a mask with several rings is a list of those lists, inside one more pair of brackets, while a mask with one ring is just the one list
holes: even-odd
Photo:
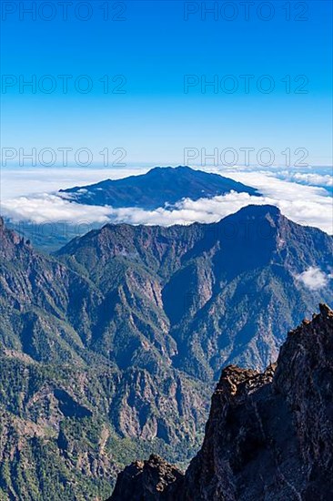
[[[331, 162], [332, 96], [332, 4], [330, 1], [290, 2], [290, 20], [283, 5], [271, 1], [274, 14], [261, 2], [245, 7], [235, 2], [234, 20], [226, 20], [218, 2], [217, 19], [207, 14], [205, 3], [181, 1], [109, 2], [109, 19], [104, 20], [102, 0], [90, 2], [91, 18], [76, 19], [74, 6], [68, 6], [68, 19], [55, 1], [55, 12], [47, 9], [36, 20], [19, 12], [5, 14], [2, 33], [2, 73], [31, 79], [50, 75], [55, 92], [31, 92], [19, 83], [5, 80], [2, 94], [3, 147], [90, 148], [94, 162], [97, 152], [125, 148], [126, 162], [182, 164], [184, 148], [271, 148], [277, 154], [285, 148], [308, 148], [309, 161], [315, 165]], [[6, 4], [3, 2], [3, 4]], [[28, 7], [31, 2], [24, 3]], [[40, 5], [41, 2], [36, 2]], [[106, 4], [106, 3], [105, 3]], [[122, 13], [122, 5], [126, 12]], [[185, 5], [187, 4], [187, 5]], [[302, 13], [303, 5], [308, 5]], [[207, 6], [213, 2], [207, 2]], [[3, 6], [4, 8], [4, 6]], [[5, 7], [11, 9], [11, 6]], [[230, 7], [231, 8], [231, 7]], [[188, 14], [185, 11], [196, 10]], [[222, 11], [221, 11], [222, 9]], [[4, 13], [3, 13], [4, 15]], [[20, 20], [23, 16], [23, 19]], [[41, 17], [55, 15], [52, 20]], [[86, 16], [82, 7], [81, 17]], [[272, 15], [270, 20], [262, 17]], [[126, 20], [115, 20], [112, 16]], [[260, 18], [261, 17], [261, 18]], [[301, 21], [298, 18], [307, 17]], [[62, 92], [58, 75], [72, 75], [68, 92]], [[73, 81], [87, 75], [93, 89], [87, 94], [76, 91]], [[99, 78], [108, 75], [111, 88], [122, 83], [125, 94], [104, 93]], [[227, 94], [200, 91], [200, 85], [184, 93], [184, 76], [212, 80], [217, 75], [222, 88], [229, 88], [233, 76], [238, 90]], [[249, 92], [244, 92], [241, 75], [253, 75]], [[257, 90], [257, 78], [269, 75], [275, 90], [264, 94]], [[286, 82], [291, 77], [291, 92]], [[307, 94], [294, 90], [305, 80]], [[222, 83], [221, 83], [222, 81]], [[45, 88], [50, 81], [45, 80]], [[85, 80], [81, 81], [82, 86]], [[263, 82], [264, 87], [267, 81]], [[4, 93], [5, 92], [5, 93]], [[199, 160], [198, 160], [199, 161]]]

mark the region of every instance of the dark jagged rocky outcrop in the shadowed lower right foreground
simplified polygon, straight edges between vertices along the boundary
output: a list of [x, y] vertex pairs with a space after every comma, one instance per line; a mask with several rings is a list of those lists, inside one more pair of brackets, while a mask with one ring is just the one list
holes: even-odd
[[118, 475], [109, 501], [328, 501], [332, 472], [333, 312], [321, 304], [264, 373], [224, 369], [185, 475], [151, 455]]

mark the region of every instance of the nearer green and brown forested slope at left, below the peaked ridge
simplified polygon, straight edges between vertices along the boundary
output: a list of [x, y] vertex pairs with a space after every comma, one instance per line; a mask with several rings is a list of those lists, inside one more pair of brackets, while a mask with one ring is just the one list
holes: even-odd
[[95, 283], [3, 221], [0, 240], [1, 499], [106, 498], [117, 468], [153, 447], [187, 461], [207, 412], [202, 383], [147, 341], [130, 365], [91, 349], [105, 308]]

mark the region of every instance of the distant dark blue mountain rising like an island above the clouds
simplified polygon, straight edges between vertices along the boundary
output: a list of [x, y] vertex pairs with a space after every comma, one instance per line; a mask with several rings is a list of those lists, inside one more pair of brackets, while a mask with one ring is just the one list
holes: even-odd
[[233, 179], [189, 167], [156, 167], [144, 175], [106, 179], [89, 186], [62, 189], [60, 193], [66, 193], [66, 198], [69, 196], [76, 203], [154, 210], [173, 205], [181, 199], [210, 199], [231, 190], [259, 196], [257, 189]]

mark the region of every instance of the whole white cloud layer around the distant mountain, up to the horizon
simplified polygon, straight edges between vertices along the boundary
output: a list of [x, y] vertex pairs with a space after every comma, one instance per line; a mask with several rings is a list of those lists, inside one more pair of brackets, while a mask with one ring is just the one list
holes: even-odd
[[[195, 167], [203, 169], [202, 167]], [[13, 221], [68, 221], [77, 224], [127, 222], [130, 224], [190, 224], [215, 222], [248, 204], [276, 205], [290, 220], [314, 226], [333, 234], [332, 170], [321, 169], [230, 169], [205, 168], [227, 178], [257, 188], [263, 197], [230, 192], [212, 199], [180, 200], [173, 208], [142, 210], [114, 209], [77, 204], [58, 193], [58, 189], [85, 186], [103, 179], [120, 179], [145, 173], [149, 168], [52, 168], [3, 169], [2, 213]]]

